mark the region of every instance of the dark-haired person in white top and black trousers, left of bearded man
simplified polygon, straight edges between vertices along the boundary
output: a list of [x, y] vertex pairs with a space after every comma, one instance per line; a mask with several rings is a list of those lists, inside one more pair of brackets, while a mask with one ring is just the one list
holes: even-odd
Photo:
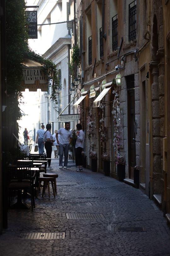
[[47, 170], [53, 170], [53, 168], [50, 166], [51, 164], [51, 153], [52, 153], [52, 143], [54, 142], [53, 140], [53, 135], [51, 134], [51, 125], [47, 124], [46, 125], [47, 131], [45, 132], [45, 149], [46, 149], [46, 154], [48, 159], [48, 167], [46, 168]]

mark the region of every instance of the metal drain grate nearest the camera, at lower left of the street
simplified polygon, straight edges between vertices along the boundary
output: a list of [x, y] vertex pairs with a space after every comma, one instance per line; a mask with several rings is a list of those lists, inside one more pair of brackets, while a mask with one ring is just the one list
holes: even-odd
[[22, 232], [19, 239], [65, 239], [65, 232]]

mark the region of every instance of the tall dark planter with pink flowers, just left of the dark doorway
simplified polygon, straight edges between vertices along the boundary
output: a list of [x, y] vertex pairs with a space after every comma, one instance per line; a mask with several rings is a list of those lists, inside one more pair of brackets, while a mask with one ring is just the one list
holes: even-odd
[[123, 181], [125, 179], [125, 165], [126, 165], [126, 159], [118, 153], [115, 155], [115, 160], [117, 165], [117, 177], [119, 178], [119, 181]]

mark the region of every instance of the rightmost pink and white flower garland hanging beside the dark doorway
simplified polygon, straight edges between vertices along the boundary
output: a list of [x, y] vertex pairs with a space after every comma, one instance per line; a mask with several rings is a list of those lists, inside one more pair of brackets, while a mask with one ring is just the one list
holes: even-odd
[[114, 122], [114, 135], [113, 135], [113, 146], [114, 146], [114, 151], [119, 154], [119, 113], [120, 113], [120, 102], [119, 102], [119, 94], [117, 89], [113, 90], [112, 92], [115, 94], [114, 101], [113, 101], [113, 106], [112, 106], [112, 115], [114, 116], [113, 122]]

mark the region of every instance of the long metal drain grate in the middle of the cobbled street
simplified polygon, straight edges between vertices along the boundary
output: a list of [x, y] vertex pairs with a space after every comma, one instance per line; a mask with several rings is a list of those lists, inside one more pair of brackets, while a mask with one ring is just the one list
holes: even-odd
[[104, 219], [103, 214], [96, 213], [66, 213], [67, 219], [71, 220], [98, 220]]

